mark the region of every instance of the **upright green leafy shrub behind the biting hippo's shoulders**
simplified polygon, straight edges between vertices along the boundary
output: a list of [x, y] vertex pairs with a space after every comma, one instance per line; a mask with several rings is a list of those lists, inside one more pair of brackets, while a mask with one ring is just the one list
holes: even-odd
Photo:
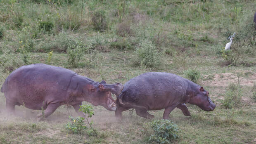
[[76, 67], [83, 54], [85, 54], [86, 46], [81, 40], [76, 40], [74, 44], [69, 45], [67, 49], [68, 63]]

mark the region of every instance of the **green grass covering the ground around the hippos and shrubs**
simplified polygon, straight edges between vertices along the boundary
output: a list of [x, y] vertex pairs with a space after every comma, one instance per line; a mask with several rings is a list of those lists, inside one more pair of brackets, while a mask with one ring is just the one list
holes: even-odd
[[[60, 3], [59, 3], [60, 2]], [[188, 104], [192, 117], [179, 109], [170, 115], [180, 128], [175, 144], [252, 144], [256, 138], [256, 42], [253, 23], [254, 0], [0, 0], [0, 85], [13, 70], [24, 65], [19, 48], [28, 51], [28, 64], [47, 63], [69, 68], [95, 81], [126, 83], [149, 71], [175, 73], [194, 69], [200, 72], [199, 85], [210, 92], [216, 109], [205, 112]], [[41, 4], [40, 4], [41, 3]], [[93, 13], [104, 13], [104, 28], [93, 24]], [[99, 24], [100, 25], [100, 24]], [[99, 30], [98, 30], [99, 29]], [[226, 66], [221, 48], [226, 38], [237, 33], [235, 43], [249, 47], [242, 53], [244, 64]], [[161, 65], [135, 66], [135, 50], [140, 41], [151, 41], [161, 57]], [[21, 42], [22, 41], [22, 42]], [[67, 48], [81, 42], [88, 50], [74, 68], [68, 62]], [[23, 46], [24, 45], [24, 46]], [[237, 83], [242, 72], [242, 104], [223, 106], [228, 83]], [[227, 75], [232, 73], [232, 76]], [[221, 75], [221, 76], [220, 76]], [[219, 77], [217, 77], [219, 76]], [[217, 82], [217, 83], [216, 83]], [[225, 83], [224, 83], [225, 82]], [[87, 104], [87, 102], [83, 102]], [[93, 106], [93, 127], [97, 137], [75, 135], [66, 130], [70, 112], [61, 106], [45, 121], [37, 122], [40, 111], [16, 106], [17, 115], [5, 112], [5, 96], [0, 93], [0, 144], [85, 143], [148, 144], [140, 130], [152, 120], [135, 112], [114, 112]], [[72, 115], [77, 116], [71, 109]], [[161, 119], [164, 110], [149, 111]]]

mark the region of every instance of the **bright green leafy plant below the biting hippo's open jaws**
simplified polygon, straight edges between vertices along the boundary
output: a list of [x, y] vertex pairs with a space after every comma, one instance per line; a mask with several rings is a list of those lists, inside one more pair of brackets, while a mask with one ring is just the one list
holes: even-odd
[[[92, 122], [89, 122], [89, 118], [94, 115], [94, 111], [92, 111], [92, 106], [88, 104], [81, 105], [79, 111], [85, 113], [84, 118], [80, 116], [77, 118], [69, 116], [71, 122], [66, 124], [66, 128], [74, 134], [81, 135], [86, 132], [87, 135], [97, 136], [97, 131], [92, 127]], [[90, 129], [88, 129], [86, 125], [89, 125]]]

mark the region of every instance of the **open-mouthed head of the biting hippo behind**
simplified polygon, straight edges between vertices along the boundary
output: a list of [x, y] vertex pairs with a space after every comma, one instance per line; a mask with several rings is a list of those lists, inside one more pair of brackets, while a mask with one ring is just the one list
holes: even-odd
[[[88, 87], [87, 87], [88, 88]], [[111, 93], [118, 96], [123, 90], [121, 83], [107, 84], [104, 80], [100, 83], [92, 83], [89, 86], [89, 98], [85, 101], [92, 103], [94, 106], [101, 105], [109, 111], [116, 110], [115, 100], [111, 97]]]

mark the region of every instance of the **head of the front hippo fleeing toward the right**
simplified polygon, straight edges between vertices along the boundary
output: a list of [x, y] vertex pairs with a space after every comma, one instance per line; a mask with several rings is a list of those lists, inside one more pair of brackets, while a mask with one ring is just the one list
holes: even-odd
[[209, 92], [204, 90], [203, 87], [196, 90], [195, 94], [193, 94], [188, 103], [195, 104], [204, 111], [213, 111], [215, 108], [215, 104], [211, 102], [211, 99], [209, 97]]

